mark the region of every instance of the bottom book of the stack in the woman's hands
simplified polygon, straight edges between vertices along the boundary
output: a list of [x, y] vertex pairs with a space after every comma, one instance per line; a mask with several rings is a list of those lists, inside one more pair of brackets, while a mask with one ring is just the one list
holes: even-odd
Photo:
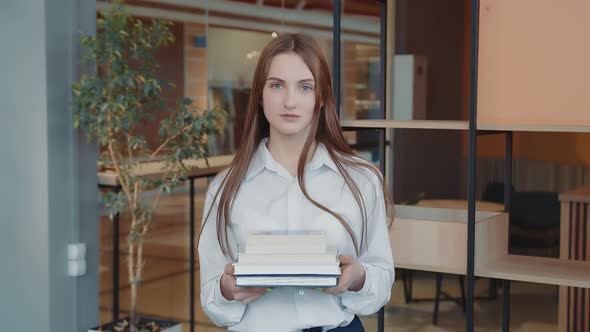
[[338, 284], [338, 277], [256, 277], [237, 276], [236, 286], [239, 287], [334, 287]]

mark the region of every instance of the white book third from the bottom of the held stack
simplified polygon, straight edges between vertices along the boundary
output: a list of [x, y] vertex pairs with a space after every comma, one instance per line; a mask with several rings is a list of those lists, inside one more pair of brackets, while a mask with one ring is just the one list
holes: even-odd
[[334, 264], [338, 262], [336, 253], [326, 254], [240, 254], [240, 264]]

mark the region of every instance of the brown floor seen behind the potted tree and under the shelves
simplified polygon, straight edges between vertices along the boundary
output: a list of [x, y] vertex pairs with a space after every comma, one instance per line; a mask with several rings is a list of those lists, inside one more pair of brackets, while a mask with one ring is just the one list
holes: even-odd
[[[195, 199], [197, 225], [201, 220], [205, 180], [199, 180]], [[146, 239], [147, 263], [144, 282], [139, 290], [138, 311], [142, 315], [176, 319], [183, 322], [183, 331], [188, 332], [189, 321], [189, 227], [188, 194], [177, 193], [162, 199], [156, 211], [159, 224]], [[121, 248], [126, 240], [126, 219], [121, 219]], [[198, 226], [197, 226], [198, 227]], [[101, 274], [100, 274], [100, 320], [112, 318], [112, 259], [111, 224], [106, 217], [101, 222]], [[129, 287], [125, 257], [120, 259], [120, 307], [129, 307]], [[226, 331], [215, 327], [203, 314], [199, 303], [199, 275], [195, 277], [195, 331]], [[487, 279], [476, 280], [476, 294], [487, 294]], [[415, 273], [413, 296], [434, 296], [434, 277], [430, 273]], [[459, 296], [459, 283], [455, 276], [445, 276], [443, 289], [452, 296]], [[511, 287], [511, 331], [549, 332], [557, 331], [557, 289], [555, 286], [513, 282]], [[500, 331], [502, 296], [498, 291], [496, 300], [476, 301], [476, 331]], [[394, 284], [391, 301], [385, 310], [385, 331], [442, 332], [464, 331], [465, 317], [461, 307], [453, 302], [441, 302], [439, 324], [432, 325], [433, 302], [405, 304], [401, 280]], [[376, 315], [361, 317], [367, 331], [377, 331]]]

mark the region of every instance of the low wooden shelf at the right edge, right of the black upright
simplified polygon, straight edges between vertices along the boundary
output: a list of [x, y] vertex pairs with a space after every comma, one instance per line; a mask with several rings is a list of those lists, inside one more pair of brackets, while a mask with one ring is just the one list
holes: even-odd
[[475, 275], [487, 278], [590, 288], [590, 262], [556, 258], [505, 255], [484, 266]]

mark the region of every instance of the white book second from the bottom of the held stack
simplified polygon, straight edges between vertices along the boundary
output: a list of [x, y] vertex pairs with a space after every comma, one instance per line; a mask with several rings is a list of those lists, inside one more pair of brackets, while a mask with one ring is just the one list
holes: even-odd
[[339, 275], [339, 264], [247, 265], [234, 263], [234, 275]]

